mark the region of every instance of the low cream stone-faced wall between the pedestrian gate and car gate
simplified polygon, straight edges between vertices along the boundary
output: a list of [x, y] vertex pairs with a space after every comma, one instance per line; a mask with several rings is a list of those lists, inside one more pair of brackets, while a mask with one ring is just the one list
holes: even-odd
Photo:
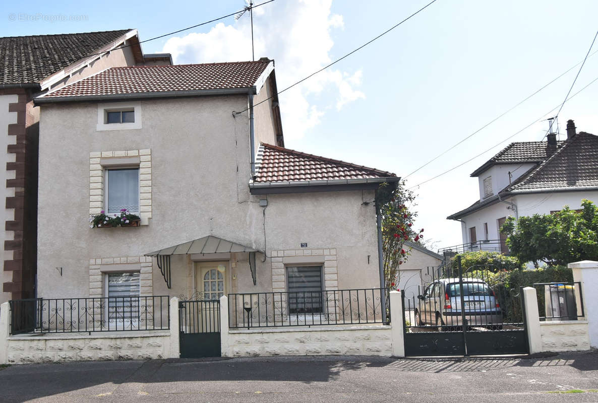
[[392, 355], [390, 326], [231, 330], [222, 356]]

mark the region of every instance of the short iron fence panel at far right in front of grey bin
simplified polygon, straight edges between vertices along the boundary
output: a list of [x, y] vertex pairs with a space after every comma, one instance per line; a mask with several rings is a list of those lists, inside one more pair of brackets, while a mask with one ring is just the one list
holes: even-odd
[[576, 321], [585, 316], [581, 282], [539, 282], [533, 287], [541, 321]]

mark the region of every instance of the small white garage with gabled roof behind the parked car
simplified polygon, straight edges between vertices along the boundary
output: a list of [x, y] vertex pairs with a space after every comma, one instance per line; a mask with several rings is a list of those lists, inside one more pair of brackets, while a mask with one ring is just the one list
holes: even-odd
[[432, 270], [440, 266], [443, 256], [416, 242], [405, 241], [404, 245], [409, 248], [409, 259], [399, 266], [397, 288], [411, 299], [422, 294], [423, 286], [432, 281]]

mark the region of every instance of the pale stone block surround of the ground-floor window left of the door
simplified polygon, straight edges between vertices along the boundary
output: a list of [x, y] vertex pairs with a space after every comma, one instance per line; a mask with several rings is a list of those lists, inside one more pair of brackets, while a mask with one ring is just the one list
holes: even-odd
[[89, 260], [89, 297], [105, 297], [104, 274], [139, 272], [139, 295], [152, 296], [152, 258], [149, 256], [100, 257]]

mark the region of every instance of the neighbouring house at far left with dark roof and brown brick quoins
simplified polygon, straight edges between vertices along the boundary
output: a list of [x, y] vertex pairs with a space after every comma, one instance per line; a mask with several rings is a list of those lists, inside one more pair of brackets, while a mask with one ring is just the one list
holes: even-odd
[[35, 296], [39, 108], [33, 97], [110, 66], [172, 64], [144, 54], [135, 29], [0, 38], [0, 303]]

